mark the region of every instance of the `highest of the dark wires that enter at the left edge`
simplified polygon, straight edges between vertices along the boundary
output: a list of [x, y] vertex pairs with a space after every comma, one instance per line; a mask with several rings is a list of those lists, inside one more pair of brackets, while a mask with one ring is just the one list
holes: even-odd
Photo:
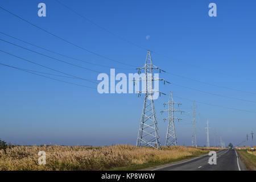
[[84, 48], [84, 47], [78, 46], [78, 45], [75, 44], [75, 43], [72, 43], [72, 42], [70, 42], [70, 41], [68, 41], [68, 40], [66, 40], [66, 39], [64, 39], [64, 38], [61, 38], [60, 36], [57, 36], [56, 34], [53, 34], [52, 32], [49, 32], [49, 31], [45, 30], [44, 28], [41, 28], [41, 27], [37, 26], [36, 24], [29, 22], [28, 20], [26, 20], [26, 19], [24, 19], [24, 18], [22, 18], [22, 17], [20, 17], [20, 16], [18, 16], [18, 15], [16, 15], [16, 14], [14, 14], [14, 13], [11, 13], [11, 11], [4, 9], [2, 6], [0, 6], [0, 9], [2, 9], [2, 10], [4, 10], [4, 11], [6, 11], [7, 13], [9, 13], [9, 14], [15, 16], [16, 18], [19, 18], [19, 19], [23, 20], [24, 22], [26, 22], [26, 23], [28, 23], [28, 24], [31, 24], [32, 26], [34, 26], [34, 27], [36, 27], [36, 28], [38, 28], [38, 29], [40, 29], [40, 30], [46, 32], [47, 34], [50, 34], [50, 35], [54, 36], [54, 37], [57, 38], [57, 39], [63, 40], [64, 42], [66, 42], [66, 43], [68, 43], [68, 44], [71, 44], [72, 46], [75, 46], [75, 47], [77, 47], [77, 48], [80, 48], [80, 49], [82, 49], [82, 50], [84, 50], [84, 51], [87, 51], [87, 52], [89, 52], [89, 53], [92, 53], [93, 55], [96, 55], [96, 56], [98, 56], [98, 57], [102, 57], [102, 58], [104, 58], [104, 59], [106, 59], [106, 60], [114, 61], [114, 62], [119, 63], [119, 64], [127, 65], [127, 66], [129, 66], [129, 67], [136, 67], [136, 66], [131, 65], [131, 64], [122, 63], [121, 61], [117, 61], [117, 60], [114, 60], [114, 59], [110, 59], [109, 57], [100, 55], [99, 53], [96, 53], [96, 52], [90, 51], [89, 49], [86, 49], [86, 48]]

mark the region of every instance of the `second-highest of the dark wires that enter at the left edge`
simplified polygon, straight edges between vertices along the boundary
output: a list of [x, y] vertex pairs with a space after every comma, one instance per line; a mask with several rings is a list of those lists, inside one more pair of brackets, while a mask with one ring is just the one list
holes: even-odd
[[[89, 61], [76, 59], [75, 57], [63, 55], [63, 54], [61, 54], [61, 53], [59, 53], [59, 52], [51, 51], [51, 50], [46, 49], [46, 48], [43, 48], [43, 47], [41, 47], [41, 46], [36, 46], [35, 44], [29, 43], [29, 42], [27, 42], [27, 41], [25, 41], [25, 40], [15, 38], [14, 36], [8, 35], [8, 34], [6, 34], [6, 33], [4, 33], [4, 32], [0, 32], [0, 34], [3, 34], [3, 35], [5, 35], [5, 36], [9, 36], [10, 38], [13, 38], [13, 39], [15, 39], [15, 40], [19, 40], [20, 42], [29, 44], [29, 45], [31, 45], [31, 46], [34, 46], [34, 47], [43, 49], [44, 51], [48, 51], [48, 52], [51, 52], [51, 53], [55, 53], [56, 55], [60, 55], [60, 56], [63, 56], [63, 57], [67, 57], [67, 58], [69, 58], [69, 59], [73, 59], [73, 60], [76, 60], [76, 61], [81, 61], [82, 63], [97, 65], [97, 66], [99, 66], [99, 67], [113, 68], [113, 67], [110, 67], [110, 66], [108, 66], [108, 65], [96, 64], [96, 63], [92, 63], [92, 62], [89, 62]], [[133, 68], [116, 68], [116, 69], [133, 69]]]

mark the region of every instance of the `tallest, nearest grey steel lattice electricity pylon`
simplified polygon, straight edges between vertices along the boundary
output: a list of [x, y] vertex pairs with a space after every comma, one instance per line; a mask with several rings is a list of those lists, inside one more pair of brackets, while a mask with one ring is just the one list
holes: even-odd
[[[155, 114], [155, 106], [154, 106], [154, 99], [153, 95], [155, 93], [161, 94], [159, 90], [152, 89], [153, 81], [159, 81], [163, 79], [155, 78], [153, 76], [153, 70], [160, 68], [156, 67], [152, 64], [150, 51], [147, 51], [146, 62], [142, 68], [137, 68], [138, 72], [141, 73], [141, 70], [144, 70], [144, 76], [139, 78], [139, 81], [144, 81], [144, 89], [139, 91], [139, 95], [141, 93], [145, 94], [144, 102], [143, 102], [143, 109], [141, 115], [141, 122], [139, 125], [139, 132], [136, 146], [149, 146], [154, 147], [156, 149], [162, 149], [159, 137], [159, 130], [158, 130], [158, 121], [156, 120]], [[163, 71], [164, 72], [164, 71]], [[138, 80], [134, 80], [138, 81]], [[165, 83], [166, 81], [164, 81]], [[163, 94], [163, 93], [162, 93]]]

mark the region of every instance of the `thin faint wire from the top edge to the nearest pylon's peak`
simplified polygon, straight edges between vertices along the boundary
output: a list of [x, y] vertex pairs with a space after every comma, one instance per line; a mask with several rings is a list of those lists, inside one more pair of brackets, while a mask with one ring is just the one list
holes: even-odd
[[94, 26], [97, 26], [98, 28], [101, 28], [102, 30], [104, 30], [104, 31], [106, 31], [106, 32], [109, 32], [109, 34], [112, 34], [112, 35], [116, 36], [117, 38], [119, 38], [119, 39], [121, 39], [121, 40], [124, 40], [125, 42], [127, 42], [127, 43], [129, 43], [129, 44], [132, 44], [133, 46], [137, 46], [137, 47], [139, 47], [139, 48], [141, 48], [141, 49], [144, 49], [144, 50], [146, 50], [146, 51], [148, 50], [147, 48], [142, 47], [142, 46], [139, 46], [138, 44], [135, 44], [135, 43], [131, 42], [130, 40], [125, 39], [123, 36], [119, 36], [119, 35], [115, 34], [114, 32], [112, 32], [112, 31], [110, 31], [110, 30], [108, 30], [108, 29], [106, 29], [106, 28], [100, 26], [99, 24], [97, 24], [97, 23], [93, 22], [92, 20], [86, 18], [84, 15], [81, 15], [81, 14], [78, 13], [77, 11], [71, 9], [70, 7], [68, 7], [67, 5], [65, 5], [64, 3], [61, 3], [60, 1], [57, 1], [57, 0], [55, 0], [55, 1], [56, 1], [57, 3], [59, 3], [60, 5], [64, 6], [65, 8], [67, 8], [68, 10], [72, 11], [73, 13], [79, 15], [81, 18], [85, 19], [86, 21], [88, 21], [88, 22], [94, 24]]

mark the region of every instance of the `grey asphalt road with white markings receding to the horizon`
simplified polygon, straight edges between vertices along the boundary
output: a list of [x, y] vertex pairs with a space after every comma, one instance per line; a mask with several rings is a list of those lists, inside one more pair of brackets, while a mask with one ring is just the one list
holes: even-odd
[[210, 156], [204, 155], [185, 162], [159, 167], [159, 171], [241, 171], [246, 170], [234, 149], [217, 151], [217, 164], [208, 163]]

